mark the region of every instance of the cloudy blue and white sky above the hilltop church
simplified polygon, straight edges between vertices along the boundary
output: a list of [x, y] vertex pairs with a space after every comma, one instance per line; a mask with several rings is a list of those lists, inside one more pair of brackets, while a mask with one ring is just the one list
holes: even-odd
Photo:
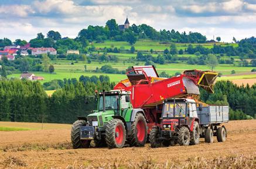
[[156, 30], [200, 32], [231, 42], [256, 36], [256, 0], [0, 0], [0, 39], [30, 40], [49, 30], [74, 38], [108, 19], [145, 23]]

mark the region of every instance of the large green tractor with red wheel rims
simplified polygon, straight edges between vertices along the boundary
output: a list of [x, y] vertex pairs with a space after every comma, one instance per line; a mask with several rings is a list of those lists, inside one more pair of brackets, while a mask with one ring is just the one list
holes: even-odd
[[97, 111], [86, 117], [78, 117], [71, 127], [74, 149], [107, 144], [109, 148], [144, 146], [148, 127], [143, 109], [133, 109], [131, 92], [112, 90], [100, 92]]

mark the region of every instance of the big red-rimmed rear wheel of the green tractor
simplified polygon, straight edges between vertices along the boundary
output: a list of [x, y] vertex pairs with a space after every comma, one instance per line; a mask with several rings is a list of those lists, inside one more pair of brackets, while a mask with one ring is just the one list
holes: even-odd
[[148, 136], [148, 127], [146, 119], [142, 113], [137, 113], [131, 126], [131, 144], [130, 146], [142, 147], [146, 143]]

